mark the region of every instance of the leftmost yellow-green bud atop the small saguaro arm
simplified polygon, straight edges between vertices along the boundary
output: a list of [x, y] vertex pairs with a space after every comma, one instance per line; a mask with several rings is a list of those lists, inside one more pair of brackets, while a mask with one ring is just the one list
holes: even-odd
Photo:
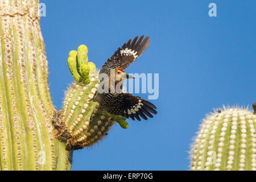
[[68, 54], [68, 67], [70, 72], [73, 75], [73, 78], [80, 82], [82, 80], [79, 72], [77, 72], [77, 52], [76, 51], [70, 51]]

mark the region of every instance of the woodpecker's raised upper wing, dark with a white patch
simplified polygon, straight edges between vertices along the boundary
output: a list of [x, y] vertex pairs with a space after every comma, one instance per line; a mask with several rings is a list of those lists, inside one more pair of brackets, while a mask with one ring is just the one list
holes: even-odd
[[144, 35], [142, 35], [139, 40], [138, 38], [139, 36], [135, 37], [133, 41], [130, 39], [127, 43], [123, 44], [122, 47], [119, 47], [114, 55], [102, 66], [100, 73], [109, 75], [110, 69], [125, 69], [137, 60], [137, 58], [147, 49], [151, 41], [149, 40], [149, 36], [144, 38]]

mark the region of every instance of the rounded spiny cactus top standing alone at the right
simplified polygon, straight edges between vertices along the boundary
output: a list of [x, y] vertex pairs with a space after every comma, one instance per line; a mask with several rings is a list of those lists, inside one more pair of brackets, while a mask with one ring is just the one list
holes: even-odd
[[203, 120], [192, 144], [191, 170], [256, 170], [256, 115], [238, 107]]

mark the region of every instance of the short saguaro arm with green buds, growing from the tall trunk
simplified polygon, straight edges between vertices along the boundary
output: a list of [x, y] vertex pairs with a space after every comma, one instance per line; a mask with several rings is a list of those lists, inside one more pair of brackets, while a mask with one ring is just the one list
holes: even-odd
[[69, 52], [68, 67], [76, 80], [65, 93], [63, 109], [53, 116], [56, 138], [66, 142], [67, 150], [92, 146], [102, 139], [115, 121], [127, 128], [126, 118], [104, 113], [92, 101], [98, 87], [96, 65], [88, 62], [88, 48], [79, 46]]

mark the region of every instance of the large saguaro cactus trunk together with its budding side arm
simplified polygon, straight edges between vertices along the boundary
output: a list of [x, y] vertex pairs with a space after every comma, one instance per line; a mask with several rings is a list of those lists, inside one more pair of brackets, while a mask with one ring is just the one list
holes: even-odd
[[1, 170], [70, 169], [73, 150], [96, 143], [115, 121], [128, 127], [91, 101], [98, 75], [84, 45], [69, 53], [76, 81], [55, 110], [39, 21], [39, 1], [0, 1]]

